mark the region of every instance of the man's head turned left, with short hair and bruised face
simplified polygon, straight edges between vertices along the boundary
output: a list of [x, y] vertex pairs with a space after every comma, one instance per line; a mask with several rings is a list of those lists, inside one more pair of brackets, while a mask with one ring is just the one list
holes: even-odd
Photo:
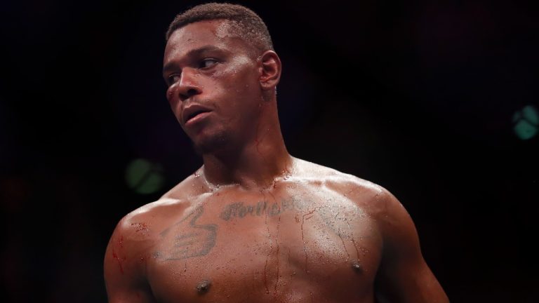
[[248, 8], [204, 4], [178, 15], [163, 64], [168, 102], [202, 154], [255, 142], [265, 124], [278, 128], [281, 62]]

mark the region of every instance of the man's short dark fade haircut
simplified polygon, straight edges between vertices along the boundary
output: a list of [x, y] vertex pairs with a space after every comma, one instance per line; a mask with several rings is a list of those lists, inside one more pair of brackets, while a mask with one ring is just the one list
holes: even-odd
[[189, 8], [176, 15], [168, 26], [165, 39], [168, 41], [176, 29], [190, 23], [219, 19], [229, 20], [231, 29], [258, 50], [274, 50], [272, 37], [262, 18], [251, 9], [237, 4], [208, 3]]

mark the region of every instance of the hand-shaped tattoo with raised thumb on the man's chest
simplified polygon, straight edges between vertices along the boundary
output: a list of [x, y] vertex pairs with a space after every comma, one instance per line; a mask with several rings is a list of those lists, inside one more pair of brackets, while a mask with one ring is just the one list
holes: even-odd
[[204, 256], [215, 246], [217, 225], [197, 224], [197, 220], [203, 213], [204, 208], [199, 206], [173, 227], [161, 232], [161, 236], [166, 236], [171, 229], [178, 231], [178, 234], [174, 236], [173, 247], [168, 251], [168, 256], [165, 257], [166, 260], [183, 260]]

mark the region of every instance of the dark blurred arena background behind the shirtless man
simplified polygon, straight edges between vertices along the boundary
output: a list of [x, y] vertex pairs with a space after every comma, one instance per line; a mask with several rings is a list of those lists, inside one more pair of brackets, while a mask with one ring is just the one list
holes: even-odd
[[[197, 1], [2, 1], [3, 302], [105, 302], [115, 224], [201, 165], [161, 78]], [[538, 4], [239, 1], [293, 156], [386, 187], [452, 302], [537, 302]]]

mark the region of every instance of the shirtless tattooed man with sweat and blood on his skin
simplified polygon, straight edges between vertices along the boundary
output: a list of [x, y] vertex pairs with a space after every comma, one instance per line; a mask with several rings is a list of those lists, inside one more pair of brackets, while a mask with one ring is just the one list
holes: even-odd
[[392, 194], [286, 151], [281, 61], [258, 15], [178, 15], [163, 75], [204, 166], [119, 222], [109, 302], [448, 302]]

